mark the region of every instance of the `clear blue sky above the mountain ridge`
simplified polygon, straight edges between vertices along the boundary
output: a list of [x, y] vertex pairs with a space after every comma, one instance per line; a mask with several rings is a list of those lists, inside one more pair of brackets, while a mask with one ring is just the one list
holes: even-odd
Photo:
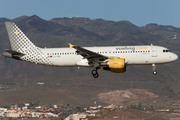
[[127, 20], [137, 26], [149, 23], [180, 28], [180, 0], [0, 0], [0, 17], [14, 19], [36, 14], [56, 17], [88, 17]]

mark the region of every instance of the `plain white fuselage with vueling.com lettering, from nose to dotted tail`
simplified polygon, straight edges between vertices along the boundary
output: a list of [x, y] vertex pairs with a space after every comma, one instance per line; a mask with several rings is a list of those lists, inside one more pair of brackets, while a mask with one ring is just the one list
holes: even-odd
[[[163, 64], [175, 61], [178, 57], [167, 48], [161, 46], [113, 46], [84, 47], [90, 51], [108, 56], [108, 58], [125, 58], [127, 65]], [[92, 67], [87, 59], [76, 54], [72, 48], [41, 48], [45, 57], [53, 66]], [[164, 52], [163, 52], [164, 51]]]

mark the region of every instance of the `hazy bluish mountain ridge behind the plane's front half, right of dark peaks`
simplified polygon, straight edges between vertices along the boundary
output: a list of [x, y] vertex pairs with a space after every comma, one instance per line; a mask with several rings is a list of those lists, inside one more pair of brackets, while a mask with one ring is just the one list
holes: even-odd
[[[179, 50], [180, 28], [170, 25], [164, 26], [150, 23], [146, 26], [138, 27], [129, 21], [114, 22], [77, 17], [71, 19], [53, 18], [50, 21], [64, 26], [76, 25], [85, 30], [95, 32], [102, 37], [104, 45], [143, 45], [152, 43], [167, 46], [172, 50]], [[176, 40], [173, 39], [174, 35], [177, 35]]]

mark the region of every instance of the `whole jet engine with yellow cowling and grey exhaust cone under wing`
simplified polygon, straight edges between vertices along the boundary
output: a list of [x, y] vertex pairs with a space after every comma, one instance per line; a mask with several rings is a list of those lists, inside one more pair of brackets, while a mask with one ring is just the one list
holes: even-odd
[[124, 73], [126, 72], [126, 65], [124, 58], [114, 58], [108, 59], [106, 62], [101, 63], [101, 66], [104, 66], [104, 70], [109, 70], [114, 73]]

